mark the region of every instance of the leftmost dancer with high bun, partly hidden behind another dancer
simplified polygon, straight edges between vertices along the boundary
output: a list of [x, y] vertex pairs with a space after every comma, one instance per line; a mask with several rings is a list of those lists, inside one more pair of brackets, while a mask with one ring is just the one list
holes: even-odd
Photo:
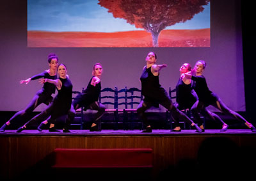
[[[58, 79], [56, 75], [56, 70], [58, 67], [58, 56], [56, 54], [49, 54], [48, 56], [48, 62], [49, 62], [49, 69], [45, 70], [41, 74], [34, 75], [33, 77], [30, 77], [26, 80], [21, 80], [20, 84], [28, 84], [30, 81], [33, 81], [35, 79], [45, 78], [45, 79]], [[35, 97], [31, 100], [29, 105], [26, 107], [26, 109], [17, 112], [8, 120], [8, 122], [4, 123], [4, 125], [1, 127], [0, 132], [4, 132], [4, 130], [16, 119], [22, 118], [24, 120], [28, 119], [28, 116], [31, 115], [31, 113], [36, 109], [37, 106], [44, 103], [46, 105], [49, 105], [52, 102], [52, 93], [55, 93], [56, 86], [54, 84], [45, 83], [41, 90], [36, 92]]]

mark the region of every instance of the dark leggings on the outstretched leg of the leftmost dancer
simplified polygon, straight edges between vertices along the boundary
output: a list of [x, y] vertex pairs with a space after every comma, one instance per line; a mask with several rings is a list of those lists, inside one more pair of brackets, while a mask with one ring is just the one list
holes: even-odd
[[17, 118], [23, 118], [24, 120], [28, 119], [28, 116], [36, 109], [37, 106], [39, 106], [42, 103], [49, 105], [52, 102], [52, 99], [53, 98], [51, 95], [46, 95], [44, 93], [36, 94], [35, 97], [28, 104], [26, 109], [15, 113], [8, 122], [12, 123], [13, 120]]

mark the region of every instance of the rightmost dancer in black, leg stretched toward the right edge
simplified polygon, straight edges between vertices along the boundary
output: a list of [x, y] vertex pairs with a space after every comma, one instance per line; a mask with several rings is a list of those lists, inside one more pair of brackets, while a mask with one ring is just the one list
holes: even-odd
[[[243, 122], [248, 128], [250, 128], [253, 132], [256, 132], [255, 127], [253, 127], [252, 123], [247, 122], [240, 114], [236, 113], [229, 109], [211, 90], [209, 90], [205, 77], [203, 75], [204, 69], [206, 67], [206, 63], [204, 60], [199, 60], [196, 62], [193, 71], [188, 72], [185, 75], [186, 78], [193, 80], [192, 88], [196, 91], [198, 95], [198, 100], [195, 104], [191, 107], [191, 112], [193, 115], [198, 114], [202, 109], [205, 109], [207, 106], [214, 106], [219, 109], [221, 112], [233, 116], [240, 122]], [[195, 72], [195, 75], [193, 73]], [[220, 122], [223, 122], [219, 116], [215, 116], [218, 118]], [[200, 117], [195, 117], [196, 121], [199, 125], [202, 125], [202, 120]], [[223, 122], [224, 123], [224, 122]], [[228, 129], [227, 124], [223, 124], [221, 131], [226, 131]]]

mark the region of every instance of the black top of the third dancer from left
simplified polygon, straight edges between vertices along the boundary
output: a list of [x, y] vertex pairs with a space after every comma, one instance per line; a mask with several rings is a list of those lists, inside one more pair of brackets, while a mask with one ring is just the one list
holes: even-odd
[[[95, 77], [95, 76], [93, 76]], [[92, 102], [98, 101], [99, 95], [100, 95], [100, 90], [101, 90], [101, 84], [100, 82], [96, 84], [96, 86], [92, 86], [91, 82], [93, 77], [90, 79], [86, 90], [83, 91], [82, 95], [84, 98], [86, 98], [86, 102], [88, 104], [91, 104]]]

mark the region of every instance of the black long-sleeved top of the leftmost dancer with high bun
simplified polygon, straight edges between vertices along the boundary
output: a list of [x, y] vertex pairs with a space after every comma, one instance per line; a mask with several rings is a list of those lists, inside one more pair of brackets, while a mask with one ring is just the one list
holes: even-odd
[[[44, 71], [41, 74], [37, 74], [31, 77], [31, 80], [40, 79], [40, 78], [52, 79], [52, 80], [58, 79], [57, 75], [51, 76], [48, 72]], [[39, 90], [37, 93], [45, 93], [47, 95], [51, 95], [52, 93], [55, 93], [55, 89], [56, 89], [56, 86], [54, 84], [44, 83], [44, 86], [42, 87], [42, 89]]]

